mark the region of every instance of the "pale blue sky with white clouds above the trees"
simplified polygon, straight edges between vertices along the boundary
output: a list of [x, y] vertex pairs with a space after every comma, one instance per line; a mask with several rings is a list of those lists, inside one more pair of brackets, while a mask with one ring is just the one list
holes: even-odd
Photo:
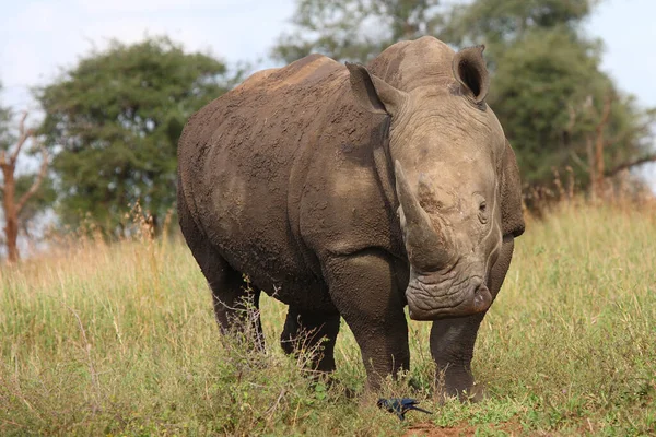
[[[30, 88], [112, 38], [167, 34], [188, 50], [266, 68], [269, 49], [290, 28], [294, 0], [0, 0], [0, 102], [37, 117]], [[602, 69], [645, 107], [656, 107], [654, 16], [655, 0], [604, 0], [586, 22], [604, 40]], [[649, 174], [656, 184], [656, 168]]]

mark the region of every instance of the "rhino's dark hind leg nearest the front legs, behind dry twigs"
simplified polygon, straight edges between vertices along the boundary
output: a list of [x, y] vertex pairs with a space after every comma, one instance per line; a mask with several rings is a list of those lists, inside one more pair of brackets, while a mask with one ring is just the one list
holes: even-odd
[[335, 370], [335, 341], [339, 332], [339, 314], [288, 310], [280, 345], [288, 354], [304, 351], [312, 354], [312, 367]]

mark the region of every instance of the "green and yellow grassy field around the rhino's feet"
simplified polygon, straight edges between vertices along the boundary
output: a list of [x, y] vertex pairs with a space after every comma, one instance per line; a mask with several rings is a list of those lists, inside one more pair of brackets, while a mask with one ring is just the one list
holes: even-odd
[[434, 414], [403, 423], [345, 395], [364, 382], [345, 326], [329, 387], [280, 352], [270, 298], [266, 354], [221, 341], [179, 241], [83, 240], [4, 265], [0, 435], [656, 434], [656, 211], [562, 206], [528, 224], [477, 343], [488, 399], [435, 403], [430, 323], [411, 322], [412, 368], [383, 394]]

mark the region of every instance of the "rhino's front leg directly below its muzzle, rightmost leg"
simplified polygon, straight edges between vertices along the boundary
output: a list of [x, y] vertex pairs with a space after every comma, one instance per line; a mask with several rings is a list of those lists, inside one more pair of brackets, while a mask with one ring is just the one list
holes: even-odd
[[[513, 257], [514, 240], [504, 238], [499, 259], [492, 267], [488, 287], [496, 297]], [[471, 359], [479, 327], [485, 312], [435, 320], [431, 329], [431, 355], [437, 365], [437, 387], [441, 397], [459, 397], [473, 401], [483, 398], [481, 388], [473, 386]]]

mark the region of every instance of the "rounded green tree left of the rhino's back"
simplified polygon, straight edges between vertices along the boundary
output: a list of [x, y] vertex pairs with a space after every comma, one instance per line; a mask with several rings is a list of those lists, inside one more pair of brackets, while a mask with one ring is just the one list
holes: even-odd
[[59, 218], [117, 232], [140, 202], [157, 226], [175, 202], [177, 140], [187, 118], [237, 80], [166, 37], [93, 50], [37, 90], [54, 153]]

